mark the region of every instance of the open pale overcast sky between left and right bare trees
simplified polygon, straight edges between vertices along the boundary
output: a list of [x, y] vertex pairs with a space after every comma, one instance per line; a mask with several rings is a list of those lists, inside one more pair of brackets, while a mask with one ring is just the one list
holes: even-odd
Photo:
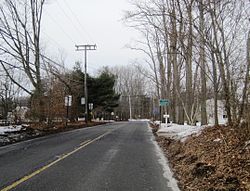
[[88, 53], [88, 68], [94, 73], [102, 66], [126, 65], [139, 57], [124, 46], [138, 38], [121, 21], [129, 10], [127, 0], [49, 0], [44, 9], [43, 42], [52, 57], [63, 55], [66, 67], [83, 61], [75, 44], [96, 44]]

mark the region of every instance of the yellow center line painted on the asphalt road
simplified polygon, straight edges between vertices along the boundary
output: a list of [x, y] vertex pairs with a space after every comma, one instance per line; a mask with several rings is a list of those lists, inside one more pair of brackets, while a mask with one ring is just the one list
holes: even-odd
[[87, 141], [82, 142], [82, 143], [80, 144], [80, 146], [77, 147], [77, 148], [75, 148], [73, 151], [71, 151], [71, 152], [69, 152], [69, 153], [67, 153], [67, 154], [61, 155], [61, 156], [60, 156], [58, 159], [56, 159], [55, 161], [53, 161], [53, 162], [51, 162], [51, 163], [49, 163], [49, 164], [47, 164], [47, 165], [41, 167], [40, 169], [38, 169], [38, 170], [32, 172], [32, 173], [29, 174], [29, 175], [24, 176], [23, 178], [17, 180], [16, 182], [10, 184], [9, 186], [3, 188], [3, 189], [0, 190], [0, 191], [9, 191], [9, 190], [11, 190], [11, 189], [17, 187], [19, 184], [22, 184], [22, 183], [24, 183], [25, 181], [31, 179], [32, 177], [34, 177], [34, 176], [40, 174], [41, 172], [45, 171], [46, 169], [50, 168], [51, 166], [57, 164], [58, 162], [62, 161], [63, 159], [65, 159], [65, 158], [67, 158], [67, 157], [69, 157], [70, 155], [76, 153], [77, 151], [81, 150], [82, 148], [84, 148], [84, 147], [90, 145], [91, 143], [93, 143], [93, 142], [95, 142], [95, 141], [101, 139], [102, 137], [106, 136], [106, 135], [109, 134], [109, 133], [110, 133], [110, 132], [106, 132], [106, 133], [104, 133], [104, 134], [102, 134], [102, 135], [100, 135], [100, 136], [98, 136], [98, 137], [96, 137], [96, 138], [94, 138], [94, 139], [92, 139], [92, 140], [87, 140]]

